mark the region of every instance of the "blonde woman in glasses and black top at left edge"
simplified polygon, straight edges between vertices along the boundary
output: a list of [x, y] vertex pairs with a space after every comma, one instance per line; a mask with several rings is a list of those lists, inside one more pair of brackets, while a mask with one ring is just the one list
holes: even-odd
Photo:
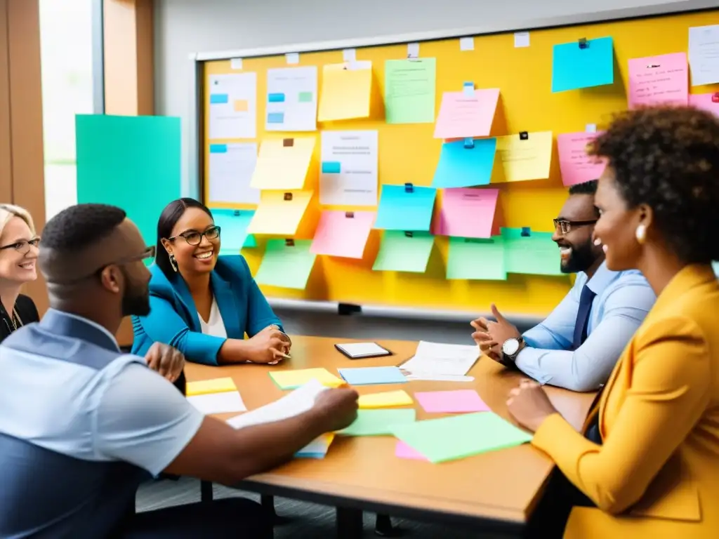
[[26, 210], [0, 204], [0, 342], [17, 328], [40, 321], [37, 308], [20, 289], [37, 279], [35, 261], [40, 239]]

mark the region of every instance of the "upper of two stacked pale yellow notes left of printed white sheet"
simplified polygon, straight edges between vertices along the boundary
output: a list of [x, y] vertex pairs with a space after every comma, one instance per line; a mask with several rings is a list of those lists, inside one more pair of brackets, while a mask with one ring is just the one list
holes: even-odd
[[257, 189], [303, 188], [314, 144], [314, 137], [265, 140], [249, 185]]

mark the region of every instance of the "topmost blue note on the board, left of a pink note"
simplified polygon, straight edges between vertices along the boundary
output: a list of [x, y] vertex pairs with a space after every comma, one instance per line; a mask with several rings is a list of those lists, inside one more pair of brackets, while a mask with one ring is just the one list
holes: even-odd
[[554, 45], [551, 91], [563, 92], [614, 83], [614, 46], [611, 37]]

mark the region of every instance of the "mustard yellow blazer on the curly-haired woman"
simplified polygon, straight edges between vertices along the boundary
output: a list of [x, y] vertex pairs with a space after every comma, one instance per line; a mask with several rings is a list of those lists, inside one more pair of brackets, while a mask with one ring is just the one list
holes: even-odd
[[598, 507], [575, 507], [564, 537], [718, 538], [719, 283], [710, 267], [685, 267], [664, 288], [596, 412], [602, 446], [559, 414], [532, 440]]

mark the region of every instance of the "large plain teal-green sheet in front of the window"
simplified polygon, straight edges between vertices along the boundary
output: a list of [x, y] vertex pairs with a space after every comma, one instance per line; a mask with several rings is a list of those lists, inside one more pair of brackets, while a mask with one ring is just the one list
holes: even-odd
[[78, 114], [78, 203], [119, 206], [155, 245], [162, 209], [180, 198], [180, 140], [179, 118]]

